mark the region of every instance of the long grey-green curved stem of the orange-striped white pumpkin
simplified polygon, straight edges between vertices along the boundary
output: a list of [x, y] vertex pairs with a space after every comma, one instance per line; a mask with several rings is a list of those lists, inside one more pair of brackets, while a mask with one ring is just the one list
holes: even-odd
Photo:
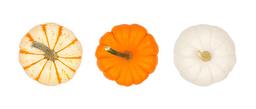
[[31, 47], [35, 47], [39, 50], [44, 51], [44, 58], [48, 59], [48, 60], [57, 60], [58, 59], [58, 55], [56, 52], [54, 52], [54, 50], [50, 50], [49, 47], [37, 42], [37, 41], [33, 41], [32, 44], [30, 45]]

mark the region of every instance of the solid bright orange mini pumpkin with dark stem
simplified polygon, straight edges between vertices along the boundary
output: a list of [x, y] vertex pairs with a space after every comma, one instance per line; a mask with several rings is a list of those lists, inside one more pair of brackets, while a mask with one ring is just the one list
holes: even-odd
[[141, 84], [158, 64], [158, 45], [141, 25], [117, 25], [104, 34], [95, 56], [103, 75], [117, 84]]

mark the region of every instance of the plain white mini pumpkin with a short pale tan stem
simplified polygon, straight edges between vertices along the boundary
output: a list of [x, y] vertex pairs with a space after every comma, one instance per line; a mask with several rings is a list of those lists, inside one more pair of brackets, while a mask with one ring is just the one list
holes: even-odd
[[208, 86], [222, 81], [235, 63], [234, 42], [217, 26], [191, 26], [176, 40], [174, 64], [180, 75], [193, 84]]

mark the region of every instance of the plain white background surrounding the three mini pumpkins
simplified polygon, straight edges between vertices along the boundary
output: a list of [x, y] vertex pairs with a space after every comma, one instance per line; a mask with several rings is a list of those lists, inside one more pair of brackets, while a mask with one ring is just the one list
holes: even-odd
[[[55, 22], [83, 47], [73, 79], [44, 86], [19, 64], [19, 44], [35, 25]], [[139, 85], [106, 79], [95, 50], [115, 25], [139, 24], [155, 37], [158, 66]], [[173, 62], [180, 33], [198, 24], [221, 27], [234, 41], [237, 62], [229, 76], [207, 87], [183, 79]], [[256, 109], [256, 3], [246, 0], [1, 0], [0, 109]]]

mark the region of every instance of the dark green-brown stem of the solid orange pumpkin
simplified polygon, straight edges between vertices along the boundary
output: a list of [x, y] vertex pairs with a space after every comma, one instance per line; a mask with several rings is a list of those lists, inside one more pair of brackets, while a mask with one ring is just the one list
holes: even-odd
[[121, 52], [118, 52], [116, 50], [111, 49], [110, 46], [105, 46], [105, 50], [108, 51], [111, 54], [114, 54], [116, 56], [124, 58], [125, 61], [130, 61], [131, 57], [132, 57], [130, 51], [125, 51], [124, 53], [121, 53]]

